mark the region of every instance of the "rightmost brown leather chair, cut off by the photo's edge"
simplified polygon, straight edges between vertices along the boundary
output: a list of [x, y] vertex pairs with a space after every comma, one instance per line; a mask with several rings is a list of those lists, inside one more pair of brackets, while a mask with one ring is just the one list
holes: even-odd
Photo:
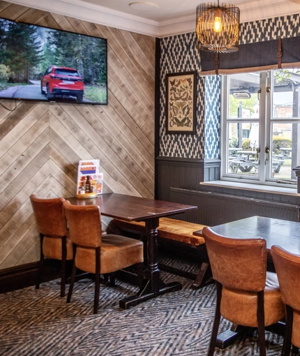
[[282, 355], [290, 355], [291, 344], [300, 348], [300, 255], [271, 247], [281, 297], [285, 304], [285, 341]]

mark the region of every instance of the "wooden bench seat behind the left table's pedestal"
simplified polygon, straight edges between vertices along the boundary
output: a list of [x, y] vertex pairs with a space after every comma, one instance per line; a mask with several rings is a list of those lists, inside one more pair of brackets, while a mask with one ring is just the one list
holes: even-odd
[[[202, 230], [203, 228], [204, 225], [197, 223], [176, 220], [174, 218], [160, 218], [157, 230], [159, 237], [199, 246], [204, 244], [204, 237], [195, 236], [193, 232]], [[146, 234], [144, 221], [123, 221], [114, 219], [110, 222], [108, 229], [114, 233], [120, 233], [120, 230], [127, 230], [128, 232], [140, 235]]]

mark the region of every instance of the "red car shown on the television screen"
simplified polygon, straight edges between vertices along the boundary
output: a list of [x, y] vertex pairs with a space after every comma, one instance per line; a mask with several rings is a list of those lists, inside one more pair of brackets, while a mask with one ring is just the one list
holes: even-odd
[[40, 90], [51, 100], [57, 95], [75, 96], [81, 103], [84, 94], [84, 82], [74, 68], [50, 66], [40, 78]]

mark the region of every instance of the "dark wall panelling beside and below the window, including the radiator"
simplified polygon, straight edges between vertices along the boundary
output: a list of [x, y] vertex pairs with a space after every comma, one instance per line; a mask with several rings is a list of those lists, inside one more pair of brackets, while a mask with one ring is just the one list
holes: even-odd
[[220, 179], [218, 159], [159, 157], [157, 167], [158, 199], [198, 207], [176, 216], [182, 220], [211, 226], [254, 215], [300, 221], [298, 195], [200, 185]]

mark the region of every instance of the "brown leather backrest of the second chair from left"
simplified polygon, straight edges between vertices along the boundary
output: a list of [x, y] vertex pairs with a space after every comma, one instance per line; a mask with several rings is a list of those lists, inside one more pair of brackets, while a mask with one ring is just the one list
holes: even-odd
[[73, 244], [98, 247], [102, 241], [101, 214], [97, 205], [72, 205], [63, 202]]

